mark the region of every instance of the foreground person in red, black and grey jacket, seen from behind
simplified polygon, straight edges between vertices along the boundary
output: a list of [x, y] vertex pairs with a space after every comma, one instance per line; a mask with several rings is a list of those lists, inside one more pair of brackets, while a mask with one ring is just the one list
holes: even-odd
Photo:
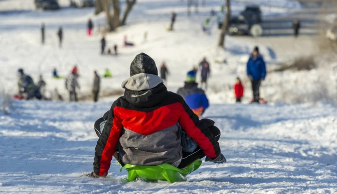
[[[167, 90], [150, 56], [137, 55], [130, 76], [122, 83], [124, 96], [95, 122], [99, 140], [94, 171], [87, 176], [106, 177], [113, 157], [121, 166], [170, 164], [180, 169], [205, 156], [207, 162], [226, 162], [214, 121], [199, 120], [182, 97]], [[194, 140], [194, 150], [186, 152], [191, 147], [182, 146], [182, 133]]]

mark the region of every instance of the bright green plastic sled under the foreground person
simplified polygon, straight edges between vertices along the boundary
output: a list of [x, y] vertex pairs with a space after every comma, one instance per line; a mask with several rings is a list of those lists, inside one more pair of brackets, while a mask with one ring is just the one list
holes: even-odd
[[169, 183], [184, 182], [186, 176], [200, 167], [201, 159], [197, 159], [183, 169], [178, 169], [170, 164], [161, 164], [158, 166], [138, 166], [127, 164], [121, 168], [128, 171], [128, 182], [134, 181], [137, 177], [144, 180], [166, 180]]

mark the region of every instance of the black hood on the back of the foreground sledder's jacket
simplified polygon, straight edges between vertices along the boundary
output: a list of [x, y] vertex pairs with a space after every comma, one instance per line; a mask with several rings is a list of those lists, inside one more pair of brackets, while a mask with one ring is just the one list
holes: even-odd
[[132, 105], [149, 108], [159, 104], [167, 93], [168, 89], [161, 83], [150, 90], [132, 91], [125, 89], [124, 98]]

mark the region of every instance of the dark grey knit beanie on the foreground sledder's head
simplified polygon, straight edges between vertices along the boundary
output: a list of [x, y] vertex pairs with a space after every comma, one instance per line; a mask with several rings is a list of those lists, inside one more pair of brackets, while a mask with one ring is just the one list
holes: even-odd
[[158, 76], [158, 69], [155, 61], [147, 54], [140, 53], [132, 61], [130, 66], [130, 76], [146, 73]]

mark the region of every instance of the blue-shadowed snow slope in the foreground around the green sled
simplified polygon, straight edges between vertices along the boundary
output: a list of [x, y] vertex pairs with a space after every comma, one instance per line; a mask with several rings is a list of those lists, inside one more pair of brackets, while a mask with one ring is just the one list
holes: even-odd
[[337, 111], [327, 104], [213, 104], [227, 163], [204, 162], [186, 183], [123, 183], [92, 171], [93, 122], [106, 103], [14, 102], [0, 115], [0, 193], [336, 193]]

